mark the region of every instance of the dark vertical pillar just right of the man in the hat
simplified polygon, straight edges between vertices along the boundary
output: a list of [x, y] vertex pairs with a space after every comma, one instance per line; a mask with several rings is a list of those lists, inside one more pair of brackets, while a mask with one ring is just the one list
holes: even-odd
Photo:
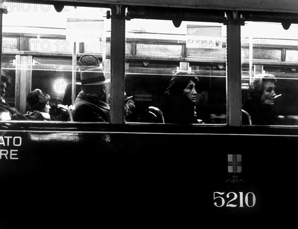
[[125, 7], [113, 5], [111, 15], [111, 99], [110, 119], [123, 124], [125, 83]]

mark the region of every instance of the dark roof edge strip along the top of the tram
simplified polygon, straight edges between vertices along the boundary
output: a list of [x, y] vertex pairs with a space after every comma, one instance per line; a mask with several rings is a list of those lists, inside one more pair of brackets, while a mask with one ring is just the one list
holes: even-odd
[[110, 4], [154, 6], [173, 8], [198, 8], [240, 11], [298, 13], [297, 0], [8, 0], [7, 2], [23, 2], [38, 4], [60, 3], [65, 5], [102, 5]]

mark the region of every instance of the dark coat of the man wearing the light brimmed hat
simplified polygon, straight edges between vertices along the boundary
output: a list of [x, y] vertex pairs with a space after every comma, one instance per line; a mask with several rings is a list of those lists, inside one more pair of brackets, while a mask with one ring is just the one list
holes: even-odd
[[110, 106], [88, 97], [83, 92], [77, 95], [72, 113], [74, 121], [110, 121]]

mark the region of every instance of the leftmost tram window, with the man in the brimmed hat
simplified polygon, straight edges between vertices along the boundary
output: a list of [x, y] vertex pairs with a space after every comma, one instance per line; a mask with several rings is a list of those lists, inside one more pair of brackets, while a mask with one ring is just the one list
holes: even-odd
[[[53, 5], [5, 2], [4, 6], [8, 13], [3, 14], [1, 73], [10, 76], [11, 83], [5, 86], [5, 95], [1, 90], [2, 102], [23, 115], [22, 118], [25, 116], [23, 120], [42, 120], [31, 115], [37, 111], [46, 120], [69, 121], [70, 117], [59, 116], [61, 112], [70, 115], [65, 109], [57, 108], [62, 104], [72, 109], [74, 121], [109, 122], [105, 92], [109, 92], [110, 82], [111, 20], [105, 16], [110, 9], [65, 6], [57, 12]], [[95, 87], [100, 87], [100, 95]], [[74, 100], [82, 88], [85, 88], [82, 100], [92, 97], [103, 105], [102, 116], [100, 111], [89, 115], [90, 111], [77, 109]]]

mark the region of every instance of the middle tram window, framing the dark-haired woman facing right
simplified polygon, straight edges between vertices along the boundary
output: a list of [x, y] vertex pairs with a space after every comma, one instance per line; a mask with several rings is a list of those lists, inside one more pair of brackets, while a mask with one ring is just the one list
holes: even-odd
[[[182, 21], [176, 28], [169, 20], [132, 19], [126, 21], [126, 42], [135, 47], [132, 55], [126, 55], [125, 92], [134, 96], [126, 121], [162, 122], [160, 110], [165, 123], [226, 124], [226, 26]], [[187, 115], [171, 119], [164, 114], [165, 92], [177, 72], [199, 79], [195, 109], [190, 106], [199, 122], [186, 121]], [[187, 114], [189, 108], [175, 109], [167, 113]]]

